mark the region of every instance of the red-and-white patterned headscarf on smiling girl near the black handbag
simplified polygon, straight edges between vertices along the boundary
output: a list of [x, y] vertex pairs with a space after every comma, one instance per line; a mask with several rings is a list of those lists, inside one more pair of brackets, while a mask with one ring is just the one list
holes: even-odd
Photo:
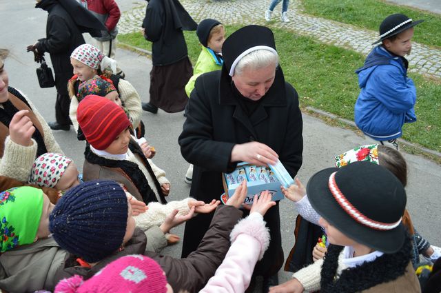
[[76, 47], [74, 52], [70, 54], [70, 58], [80, 61], [90, 68], [101, 70], [110, 68], [112, 72], [116, 72], [116, 61], [106, 57], [99, 48], [88, 43], [83, 43], [83, 45]]

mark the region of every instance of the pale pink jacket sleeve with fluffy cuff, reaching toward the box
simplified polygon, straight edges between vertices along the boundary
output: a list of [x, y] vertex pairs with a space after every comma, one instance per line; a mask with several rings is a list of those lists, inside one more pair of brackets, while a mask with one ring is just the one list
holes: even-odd
[[245, 292], [256, 262], [269, 245], [269, 230], [263, 216], [257, 212], [247, 216], [234, 226], [230, 239], [232, 245], [225, 259], [201, 292]]

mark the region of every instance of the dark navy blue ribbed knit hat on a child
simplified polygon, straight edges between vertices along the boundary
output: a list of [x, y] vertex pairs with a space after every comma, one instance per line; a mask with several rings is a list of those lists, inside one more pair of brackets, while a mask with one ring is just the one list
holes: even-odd
[[49, 230], [61, 248], [95, 263], [123, 244], [127, 197], [114, 181], [88, 181], [75, 186], [55, 205]]

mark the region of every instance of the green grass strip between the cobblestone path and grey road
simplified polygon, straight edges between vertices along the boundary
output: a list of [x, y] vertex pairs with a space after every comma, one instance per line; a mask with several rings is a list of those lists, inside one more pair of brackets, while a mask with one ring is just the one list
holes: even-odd
[[[234, 32], [238, 26], [226, 26]], [[294, 85], [300, 105], [334, 113], [353, 121], [353, 105], [360, 92], [359, 68], [365, 57], [357, 52], [316, 43], [309, 37], [299, 37], [286, 30], [273, 28], [280, 64], [285, 79]], [[151, 43], [141, 33], [119, 34], [119, 41], [151, 50]], [[201, 45], [195, 32], [185, 32], [192, 63], [196, 63]], [[410, 74], [417, 86], [416, 123], [404, 126], [404, 139], [441, 152], [441, 81], [431, 81], [420, 74]]]

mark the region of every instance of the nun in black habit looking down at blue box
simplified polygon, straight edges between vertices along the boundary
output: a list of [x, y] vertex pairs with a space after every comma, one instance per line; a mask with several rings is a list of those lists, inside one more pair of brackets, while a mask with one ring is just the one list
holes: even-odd
[[[222, 52], [222, 70], [196, 79], [178, 139], [184, 159], [194, 164], [189, 195], [205, 202], [220, 198], [221, 173], [232, 172], [239, 162], [268, 165], [280, 159], [292, 177], [302, 165], [298, 94], [283, 77], [273, 32], [245, 26], [225, 40]], [[196, 250], [211, 220], [212, 214], [201, 214], [187, 221], [182, 257]], [[278, 202], [265, 221], [271, 242], [254, 276], [274, 285], [283, 265]]]

